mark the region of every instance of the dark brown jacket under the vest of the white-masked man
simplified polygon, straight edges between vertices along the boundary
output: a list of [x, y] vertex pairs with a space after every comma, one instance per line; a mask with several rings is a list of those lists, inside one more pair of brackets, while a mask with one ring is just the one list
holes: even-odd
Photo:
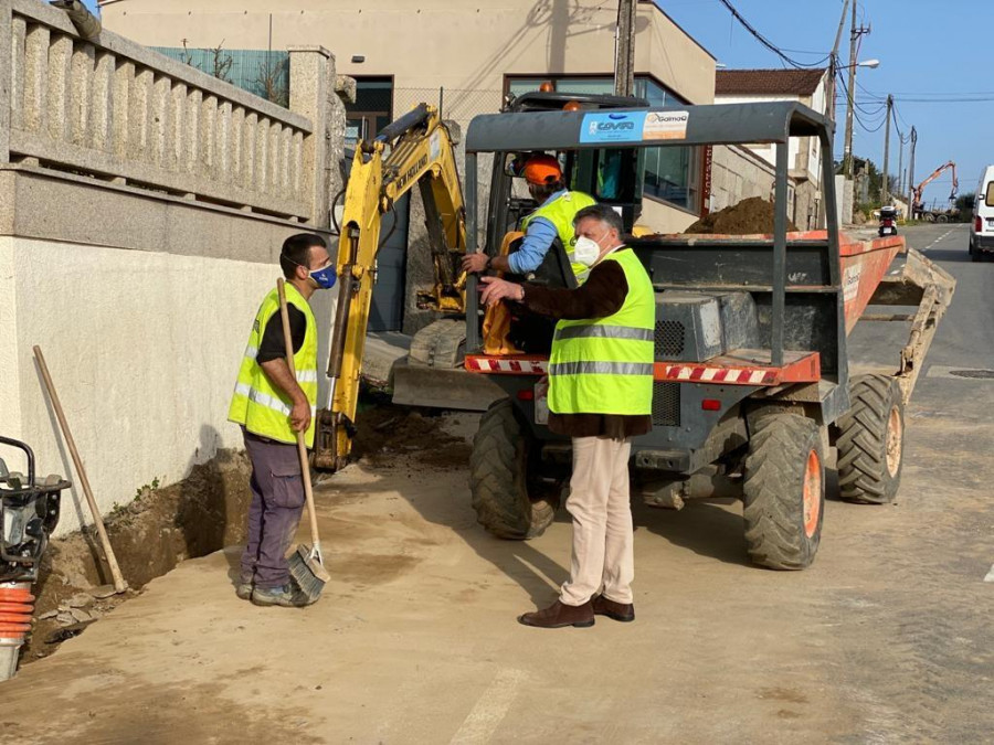
[[[525, 285], [521, 304], [533, 313], [557, 320], [605, 318], [621, 310], [628, 295], [624, 269], [617, 262], [601, 262], [577, 289]], [[549, 429], [570, 437], [624, 439], [645, 435], [653, 428], [652, 416], [624, 414], [549, 414]]]

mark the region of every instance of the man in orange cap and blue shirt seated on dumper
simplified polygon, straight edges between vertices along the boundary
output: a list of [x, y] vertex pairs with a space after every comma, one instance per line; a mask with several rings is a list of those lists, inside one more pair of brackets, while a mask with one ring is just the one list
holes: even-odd
[[562, 182], [562, 169], [553, 156], [531, 155], [524, 168], [516, 169], [525, 177], [528, 192], [539, 207], [521, 220], [525, 240], [521, 246], [508, 256], [487, 256], [485, 253], [467, 254], [463, 257], [465, 272], [483, 273], [487, 269], [528, 274], [541, 266], [546, 254], [558, 237], [562, 241], [570, 266], [578, 281], [586, 278], [588, 267], [573, 260], [573, 217], [594, 199], [581, 191], [568, 191]]

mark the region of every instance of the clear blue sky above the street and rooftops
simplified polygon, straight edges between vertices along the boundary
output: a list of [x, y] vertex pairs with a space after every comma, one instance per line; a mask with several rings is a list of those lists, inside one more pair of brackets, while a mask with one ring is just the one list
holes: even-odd
[[[731, 15], [720, 0], [655, 0], [687, 33], [727, 68], [782, 67]], [[762, 35], [787, 55], [811, 64], [832, 50], [843, 0], [730, 0]], [[856, 102], [866, 126], [855, 125], [854, 152], [884, 163], [884, 128], [869, 132], [885, 119], [880, 109], [887, 94], [895, 96], [897, 124], [908, 137], [918, 131], [914, 180], [920, 182], [942, 163], [956, 163], [960, 193], [976, 190], [981, 169], [994, 163], [994, 77], [988, 56], [994, 28], [994, 2], [937, 2], [935, 0], [857, 0], [857, 19], [873, 31], [863, 36], [859, 60], [880, 60], [876, 70], [857, 70]], [[850, 11], [852, 12], [852, 11]], [[848, 64], [849, 21], [839, 45], [842, 64]], [[803, 53], [802, 53], [803, 52]], [[870, 92], [867, 94], [864, 89]], [[980, 94], [980, 95], [977, 95]], [[939, 98], [940, 100], [935, 100]], [[984, 98], [954, 103], [949, 98]], [[916, 100], [918, 99], [918, 100]], [[922, 102], [921, 99], [929, 99]], [[843, 152], [845, 94], [839, 87], [836, 159]], [[858, 110], [858, 109], [857, 109]], [[890, 136], [890, 171], [898, 172], [899, 138]], [[908, 167], [910, 145], [905, 147]], [[927, 203], [944, 202], [952, 187], [945, 171], [924, 191]]]

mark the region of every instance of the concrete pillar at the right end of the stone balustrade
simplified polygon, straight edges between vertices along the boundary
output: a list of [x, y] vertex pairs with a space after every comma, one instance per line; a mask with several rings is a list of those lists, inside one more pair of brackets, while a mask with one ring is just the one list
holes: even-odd
[[289, 107], [310, 119], [314, 130], [304, 141], [305, 188], [311, 199], [311, 224], [327, 227], [335, 95], [335, 57], [324, 46], [290, 46]]

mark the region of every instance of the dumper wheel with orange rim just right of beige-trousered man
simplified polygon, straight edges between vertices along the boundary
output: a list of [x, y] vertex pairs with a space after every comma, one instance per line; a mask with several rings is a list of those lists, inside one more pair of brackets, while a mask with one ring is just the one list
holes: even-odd
[[786, 412], [759, 418], [745, 456], [745, 546], [771, 570], [803, 570], [818, 551], [825, 459], [818, 424]]

